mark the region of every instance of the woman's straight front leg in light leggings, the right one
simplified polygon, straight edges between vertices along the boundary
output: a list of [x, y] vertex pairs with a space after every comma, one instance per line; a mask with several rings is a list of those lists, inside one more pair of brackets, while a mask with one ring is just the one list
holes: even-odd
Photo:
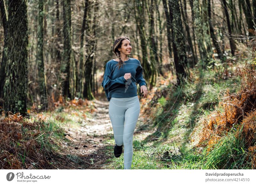
[[[137, 98], [136, 98], [137, 97]], [[133, 156], [133, 132], [135, 130], [139, 115], [140, 101], [138, 96], [132, 97], [127, 102], [124, 125], [124, 169], [131, 169]]]

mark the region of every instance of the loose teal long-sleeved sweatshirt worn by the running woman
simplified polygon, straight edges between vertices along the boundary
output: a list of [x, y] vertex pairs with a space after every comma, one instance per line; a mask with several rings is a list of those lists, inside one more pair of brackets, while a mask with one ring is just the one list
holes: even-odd
[[[142, 67], [140, 61], [134, 58], [124, 61], [124, 65], [118, 69], [117, 61], [109, 60], [106, 64], [103, 81], [101, 83], [105, 90], [108, 101], [110, 98], [128, 98], [137, 95], [137, 85], [146, 85], [146, 81], [142, 75]], [[124, 74], [131, 73], [132, 77], [125, 80]], [[146, 85], [147, 86], [147, 85]]]

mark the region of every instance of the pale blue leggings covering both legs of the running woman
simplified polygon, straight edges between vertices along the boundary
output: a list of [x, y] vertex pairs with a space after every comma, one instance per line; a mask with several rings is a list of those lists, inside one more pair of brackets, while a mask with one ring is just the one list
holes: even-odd
[[110, 99], [109, 117], [113, 126], [115, 142], [118, 146], [124, 144], [124, 169], [131, 169], [132, 166], [132, 139], [139, 115], [140, 101], [138, 96], [112, 97]]

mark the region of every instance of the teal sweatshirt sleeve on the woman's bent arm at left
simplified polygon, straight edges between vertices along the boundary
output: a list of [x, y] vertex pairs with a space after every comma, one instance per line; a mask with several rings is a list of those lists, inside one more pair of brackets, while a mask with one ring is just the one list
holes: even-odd
[[103, 82], [101, 84], [105, 90], [110, 90], [110, 89], [116, 88], [120, 84], [125, 85], [126, 80], [125, 80], [124, 76], [120, 76], [118, 78], [112, 79], [111, 72], [112, 71], [110, 69], [109, 63], [107, 63], [106, 70], [104, 73]]

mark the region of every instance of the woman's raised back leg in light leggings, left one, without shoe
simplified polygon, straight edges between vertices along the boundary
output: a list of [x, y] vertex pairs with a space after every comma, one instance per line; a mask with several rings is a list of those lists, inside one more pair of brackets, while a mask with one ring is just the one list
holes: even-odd
[[119, 102], [114, 100], [114, 98], [111, 98], [108, 109], [110, 121], [113, 126], [116, 145], [121, 146], [124, 144], [123, 135], [125, 104], [124, 102]]

